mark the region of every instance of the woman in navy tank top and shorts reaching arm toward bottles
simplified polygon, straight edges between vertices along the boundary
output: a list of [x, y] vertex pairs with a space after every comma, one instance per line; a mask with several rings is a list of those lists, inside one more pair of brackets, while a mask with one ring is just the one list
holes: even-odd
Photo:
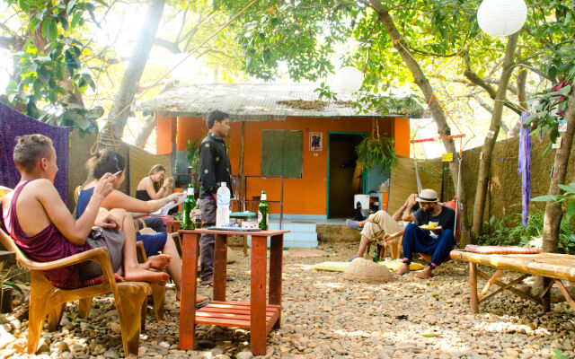
[[[112, 180], [112, 185], [114, 188], [119, 188], [125, 178], [124, 170], [126, 168], [126, 160], [119, 153], [115, 153], [111, 150], [101, 150], [96, 153], [93, 158], [88, 160], [87, 167], [93, 180], [89, 180], [84, 184], [84, 187], [80, 192], [78, 204], [76, 206], [76, 215], [82, 215], [85, 204], [88, 203], [90, 198], [93, 196], [93, 188], [97, 184], [98, 180], [102, 178], [104, 173], [113, 172], [114, 179]], [[165, 206], [170, 201], [177, 201], [178, 196], [181, 196], [181, 194], [174, 193], [168, 197], [160, 199], [140, 201], [134, 197], [129, 197], [118, 189], [114, 189], [108, 196], [103, 198], [101, 206], [104, 208], [122, 208], [128, 212], [151, 213], [157, 211], [162, 206]], [[133, 227], [134, 223], [132, 222], [131, 225]], [[173, 284], [176, 286], [176, 298], [180, 300], [181, 258], [178, 254], [178, 250], [176, 250], [173, 237], [168, 235], [166, 232], [157, 232], [154, 234], [138, 235], [137, 241], [142, 241], [144, 249], [146, 250], [146, 256], [148, 257], [154, 256], [159, 251], [172, 257], [167, 269], [170, 276], [172, 276]], [[197, 302], [206, 302], [208, 300], [207, 297], [201, 295], [198, 295], [197, 298]]]

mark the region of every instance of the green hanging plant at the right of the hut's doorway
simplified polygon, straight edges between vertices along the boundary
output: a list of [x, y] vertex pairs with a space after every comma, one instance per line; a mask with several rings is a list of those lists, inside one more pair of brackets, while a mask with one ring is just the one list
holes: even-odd
[[389, 137], [379, 136], [379, 125], [374, 122], [371, 137], [364, 138], [357, 146], [358, 163], [363, 171], [370, 171], [375, 166], [381, 166], [379, 173], [392, 168], [397, 164], [394, 140]]

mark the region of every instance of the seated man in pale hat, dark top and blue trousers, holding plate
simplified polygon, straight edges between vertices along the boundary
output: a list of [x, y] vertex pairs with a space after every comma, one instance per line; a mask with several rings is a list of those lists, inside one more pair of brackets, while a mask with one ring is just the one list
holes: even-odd
[[[403, 267], [397, 271], [397, 276], [409, 273], [413, 253], [423, 253], [431, 255], [431, 261], [416, 276], [429, 278], [431, 271], [443, 263], [455, 245], [456, 211], [439, 205], [438, 194], [433, 189], [423, 189], [417, 201], [421, 208], [415, 213], [413, 223], [402, 231], [385, 234], [384, 239], [388, 241], [403, 236]], [[438, 229], [424, 231], [420, 225], [436, 225]]]

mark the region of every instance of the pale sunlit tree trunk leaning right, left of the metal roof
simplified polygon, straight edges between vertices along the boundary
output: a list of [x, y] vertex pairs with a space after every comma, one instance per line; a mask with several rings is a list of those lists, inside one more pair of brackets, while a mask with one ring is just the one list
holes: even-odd
[[129, 60], [128, 68], [119, 84], [119, 90], [114, 97], [114, 102], [110, 109], [110, 114], [106, 120], [106, 125], [102, 128], [99, 137], [98, 147], [115, 148], [121, 142], [124, 127], [128, 120], [132, 101], [137, 92], [147, 57], [154, 45], [155, 33], [164, 13], [165, 0], [151, 0], [146, 13], [146, 20], [137, 37], [134, 53]]

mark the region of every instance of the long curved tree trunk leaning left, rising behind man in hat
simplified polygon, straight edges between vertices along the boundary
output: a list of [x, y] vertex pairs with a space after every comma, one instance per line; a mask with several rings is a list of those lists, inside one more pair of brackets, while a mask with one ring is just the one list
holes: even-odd
[[[389, 9], [386, 8], [379, 0], [369, 0], [372, 8], [376, 11], [377, 17], [380, 22], [384, 25], [385, 31], [390, 36], [394, 43], [394, 48], [399, 52], [399, 55], [403, 58], [403, 62], [410, 70], [413, 75], [414, 82], [423, 92], [425, 100], [429, 102], [433, 96], [433, 87], [429, 83], [425, 74], [421, 70], [419, 63], [412, 56], [411, 51], [407, 45], [405, 39], [400, 36], [399, 31], [395, 27], [394, 20], [389, 14]], [[429, 109], [431, 110], [431, 115], [438, 126], [438, 133], [440, 136], [450, 136], [451, 128], [447, 124], [446, 115], [441, 108], [436, 97], [433, 97], [433, 101], [429, 104]], [[448, 153], [456, 153], [456, 145], [451, 138], [445, 138], [443, 141], [446, 151]], [[454, 161], [449, 163], [449, 170], [452, 173], [452, 180], [454, 182], [455, 188], [457, 188], [457, 179], [462, 176], [463, 173], [459, 173], [459, 159], [454, 156]], [[461, 178], [461, 188], [459, 190], [459, 218], [461, 220], [462, 231], [461, 231], [461, 244], [465, 246], [469, 244], [469, 231], [467, 226], [467, 208], [466, 208], [466, 196], [465, 196], [465, 186], [463, 177]]]

